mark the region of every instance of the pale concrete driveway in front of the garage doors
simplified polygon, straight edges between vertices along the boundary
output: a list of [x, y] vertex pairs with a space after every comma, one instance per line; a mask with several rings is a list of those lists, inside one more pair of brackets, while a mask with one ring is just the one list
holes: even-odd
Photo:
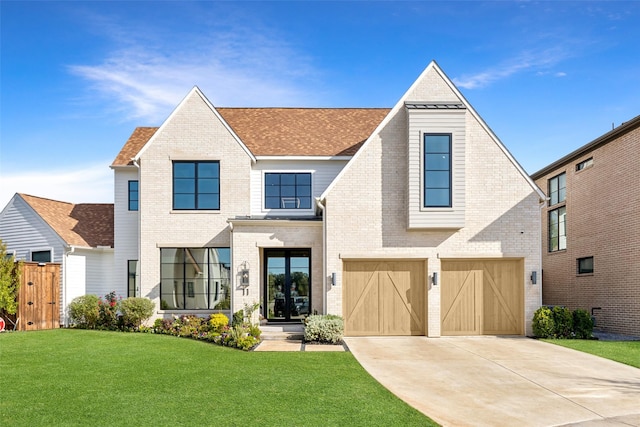
[[640, 426], [640, 369], [523, 337], [345, 338], [444, 426]]

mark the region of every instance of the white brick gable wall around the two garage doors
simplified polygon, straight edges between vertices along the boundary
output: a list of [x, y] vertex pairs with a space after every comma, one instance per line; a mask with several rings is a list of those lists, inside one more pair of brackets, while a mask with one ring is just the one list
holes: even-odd
[[[412, 101], [461, 102], [433, 69], [407, 94]], [[406, 112], [366, 145], [326, 200], [327, 272], [341, 283], [342, 260], [389, 256], [428, 259], [429, 275], [440, 258], [518, 257], [525, 260], [525, 325], [541, 302], [538, 194], [472, 114], [466, 115], [466, 212], [460, 230], [408, 231]], [[440, 335], [440, 287], [428, 291], [428, 335]], [[342, 287], [327, 293], [327, 311], [342, 313]]]

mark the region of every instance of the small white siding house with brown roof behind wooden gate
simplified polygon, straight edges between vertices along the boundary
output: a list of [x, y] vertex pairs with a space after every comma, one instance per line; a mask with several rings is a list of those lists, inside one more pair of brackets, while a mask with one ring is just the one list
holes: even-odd
[[77, 296], [104, 296], [126, 287], [113, 281], [113, 205], [72, 204], [15, 194], [0, 212], [0, 240], [17, 259], [61, 264], [60, 323]]

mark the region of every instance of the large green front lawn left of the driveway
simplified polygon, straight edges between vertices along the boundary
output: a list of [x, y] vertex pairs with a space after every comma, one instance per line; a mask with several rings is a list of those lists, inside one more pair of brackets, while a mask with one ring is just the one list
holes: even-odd
[[166, 335], [0, 334], [3, 425], [437, 425], [351, 353], [243, 352]]

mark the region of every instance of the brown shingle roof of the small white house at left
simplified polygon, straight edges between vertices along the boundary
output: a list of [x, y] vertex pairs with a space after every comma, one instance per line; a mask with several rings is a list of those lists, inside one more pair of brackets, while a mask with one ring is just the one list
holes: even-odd
[[73, 204], [18, 193], [71, 246], [113, 247], [113, 204]]

